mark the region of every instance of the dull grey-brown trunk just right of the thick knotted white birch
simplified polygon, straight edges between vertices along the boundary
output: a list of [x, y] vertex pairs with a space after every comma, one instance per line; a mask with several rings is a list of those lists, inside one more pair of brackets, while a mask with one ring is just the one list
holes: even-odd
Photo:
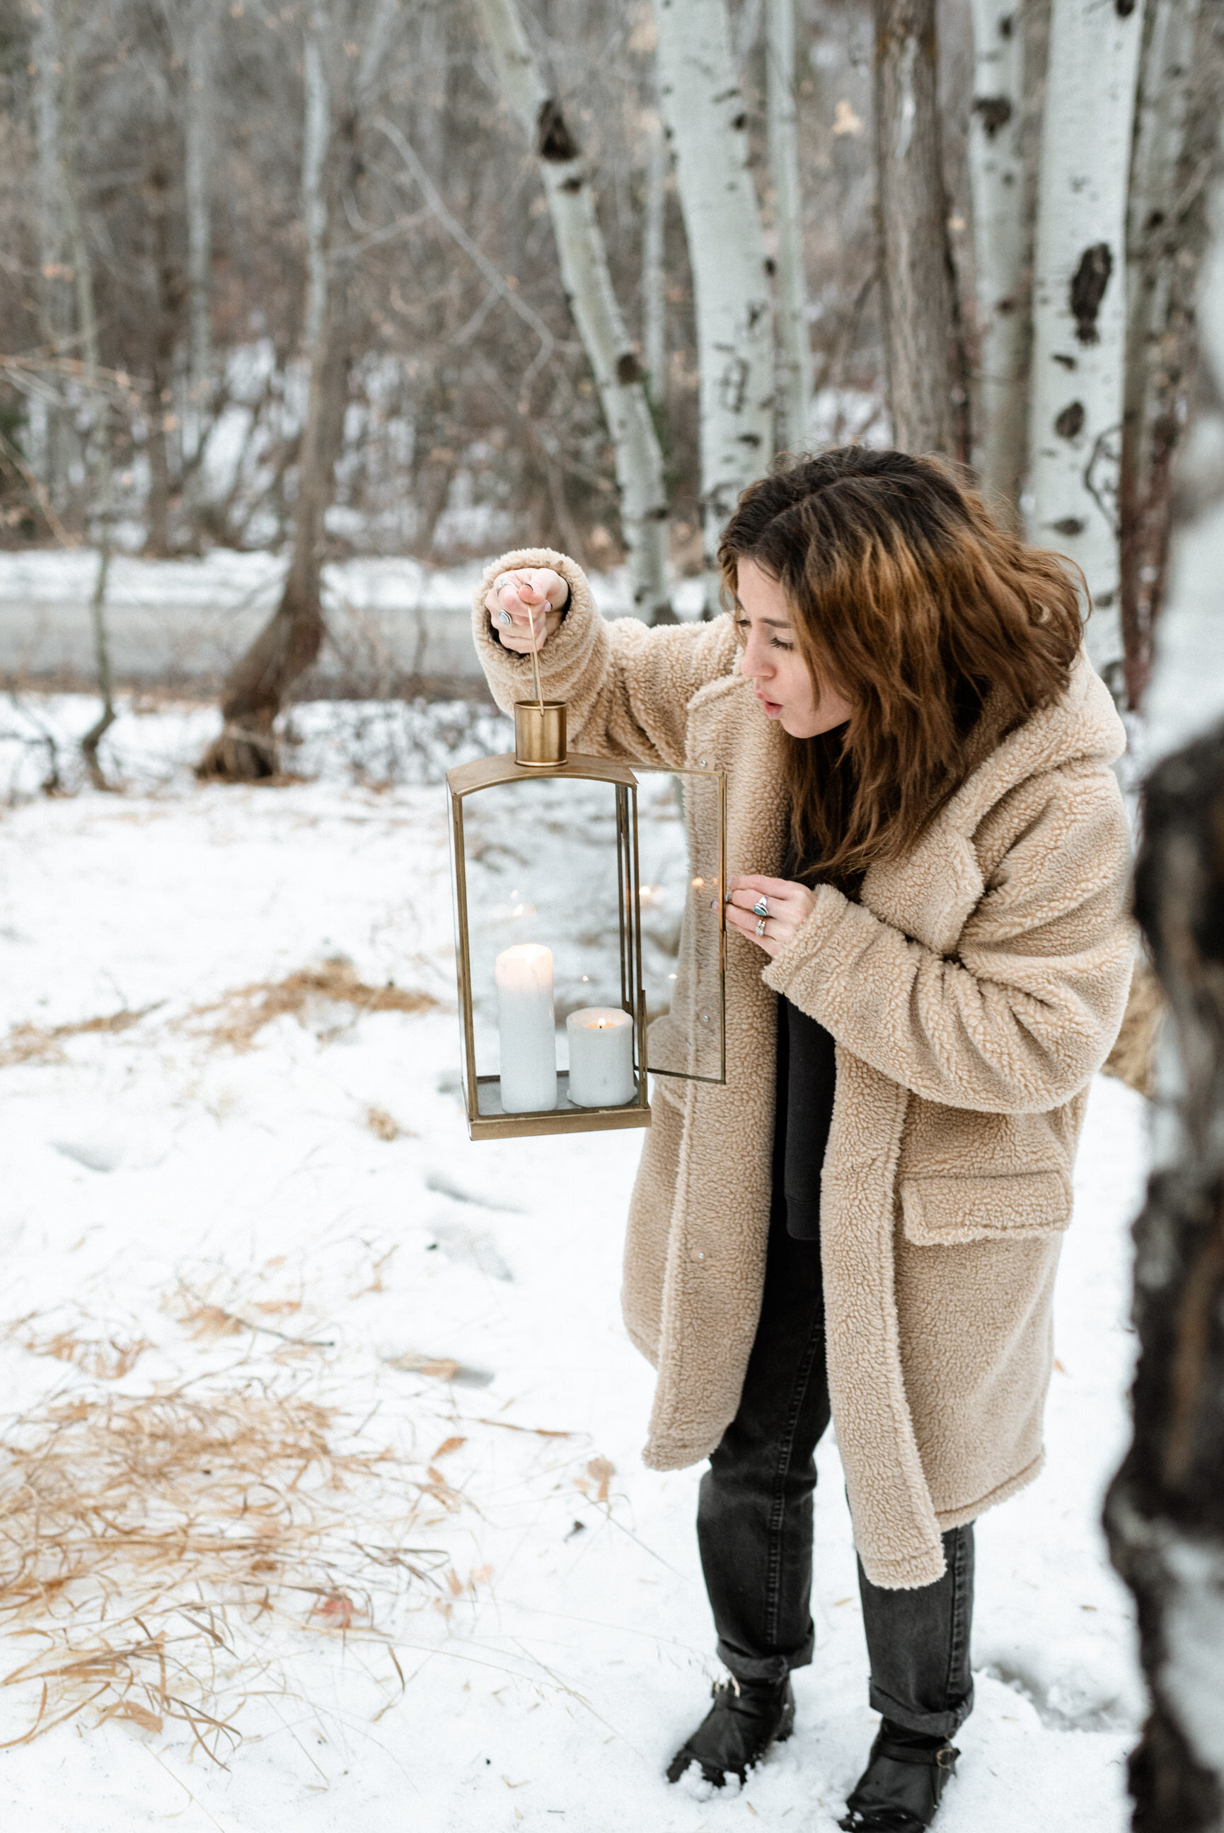
[[[1218, 84], [1195, 84], [1200, 0], [1147, 0], [1130, 156], [1121, 422], [1121, 636], [1127, 700], [1152, 667], [1169, 554], [1173, 460], [1185, 422], [1193, 295], [1206, 238], [1204, 170]], [[1209, 55], [1211, 31], [1202, 49]], [[1193, 101], [1198, 106], [1193, 106]]]

